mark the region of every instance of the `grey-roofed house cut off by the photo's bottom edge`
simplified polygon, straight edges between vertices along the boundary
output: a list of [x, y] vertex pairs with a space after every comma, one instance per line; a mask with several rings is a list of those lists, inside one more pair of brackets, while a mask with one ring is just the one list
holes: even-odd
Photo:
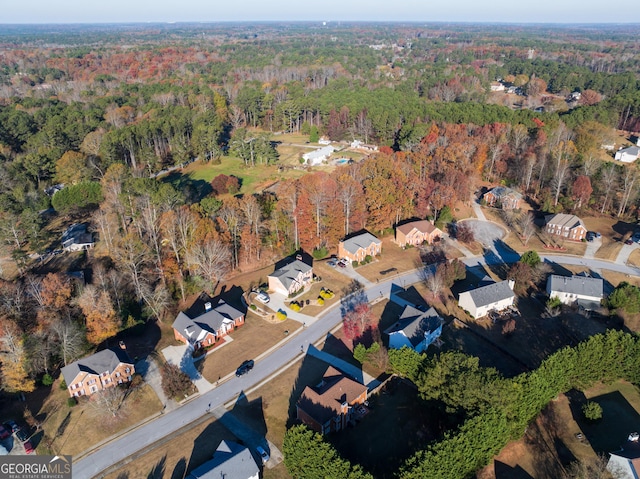
[[187, 479], [258, 479], [260, 468], [251, 451], [232, 441], [222, 441], [213, 459], [196, 467]]

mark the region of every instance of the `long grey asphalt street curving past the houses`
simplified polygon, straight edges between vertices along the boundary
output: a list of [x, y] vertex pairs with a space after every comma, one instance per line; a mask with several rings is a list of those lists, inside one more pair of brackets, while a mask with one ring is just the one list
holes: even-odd
[[[563, 255], [541, 255], [541, 258], [546, 262], [584, 265], [591, 269], [607, 269], [623, 274], [640, 276], [639, 268], [609, 261]], [[463, 258], [461, 261], [468, 266], [475, 266], [478, 263], [484, 263], [485, 258]], [[486, 258], [486, 262], [490, 263], [500, 261], [501, 258], [495, 256]], [[365, 292], [370, 301], [381, 295], [388, 298], [392, 284], [413, 284], [420, 280], [419, 273], [417, 271], [411, 271], [378, 284], [371, 284], [365, 289]], [[209, 408], [213, 410], [235, 400], [241, 392], [247, 391], [261, 382], [268, 380], [274, 373], [298, 358], [302, 354], [302, 349], [306, 351], [310, 343], [325, 336], [341, 319], [340, 306], [338, 303], [321, 318], [309, 319], [306, 328], [299, 330], [300, 332], [298, 334], [289, 338], [289, 340], [280, 347], [256, 361], [256, 366], [250, 374], [239, 378], [232, 377], [230, 380], [223, 382], [211, 391], [208, 391], [178, 409], [158, 417], [98, 448], [95, 452], [88, 454], [78, 462], [74, 462], [73, 477], [88, 479], [98, 476], [105, 469], [120, 463], [135, 452], [152, 445], [165, 436], [196, 421], [206, 414]]]

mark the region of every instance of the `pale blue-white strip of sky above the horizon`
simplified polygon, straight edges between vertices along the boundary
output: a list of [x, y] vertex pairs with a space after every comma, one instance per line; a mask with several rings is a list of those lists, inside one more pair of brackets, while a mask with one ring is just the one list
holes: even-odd
[[640, 23], [638, 0], [3, 0], [2, 23]]

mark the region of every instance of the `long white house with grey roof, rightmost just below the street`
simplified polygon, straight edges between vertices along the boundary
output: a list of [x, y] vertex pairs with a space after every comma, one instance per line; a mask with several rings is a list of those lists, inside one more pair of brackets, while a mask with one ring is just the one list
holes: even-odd
[[601, 278], [586, 276], [560, 276], [552, 274], [547, 278], [549, 298], [558, 298], [563, 304], [578, 303], [586, 310], [600, 306], [604, 296], [604, 283]]

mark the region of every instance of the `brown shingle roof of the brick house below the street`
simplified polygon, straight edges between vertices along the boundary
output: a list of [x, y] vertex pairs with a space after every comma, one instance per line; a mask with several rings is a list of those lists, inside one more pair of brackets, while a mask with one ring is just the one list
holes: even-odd
[[351, 404], [367, 387], [346, 377], [329, 366], [316, 386], [307, 386], [298, 399], [298, 406], [320, 424], [340, 414], [344, 402]]

